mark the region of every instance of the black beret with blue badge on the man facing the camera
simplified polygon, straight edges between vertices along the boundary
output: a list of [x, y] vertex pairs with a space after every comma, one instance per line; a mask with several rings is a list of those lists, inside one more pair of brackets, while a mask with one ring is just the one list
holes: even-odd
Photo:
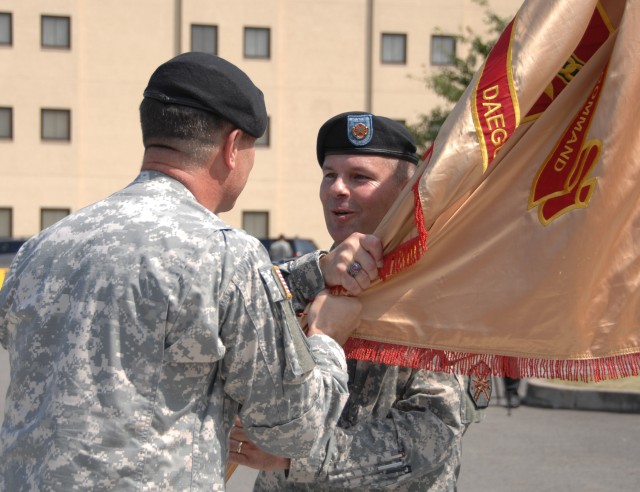
[[402, 123], [361, 111], [342, 113], [320, 127], [316, 154], [320, 167], [325, 155], [369, 154], [397, 157], [417, 164], [413, 137]]

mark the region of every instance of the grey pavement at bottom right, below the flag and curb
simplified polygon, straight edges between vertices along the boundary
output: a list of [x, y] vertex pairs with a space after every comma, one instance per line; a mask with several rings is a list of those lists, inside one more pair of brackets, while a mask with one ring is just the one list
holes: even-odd
[[491, 407], [463, 440], [460, 492], [634, 492], [640, 415]]

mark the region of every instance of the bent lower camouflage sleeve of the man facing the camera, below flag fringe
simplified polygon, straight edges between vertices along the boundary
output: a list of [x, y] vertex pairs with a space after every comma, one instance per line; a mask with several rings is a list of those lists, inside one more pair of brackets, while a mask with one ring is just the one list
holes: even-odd
[[317, 454], [291, 460], [287, 481], [378, 490], [429, 483], [429, 475], [455, 480], [456, 470], [442, 468], [458, 466], [463, 405], [456, 376], [416, 371], [386, 418], [360, 418], [352, 427], [337, 428]]

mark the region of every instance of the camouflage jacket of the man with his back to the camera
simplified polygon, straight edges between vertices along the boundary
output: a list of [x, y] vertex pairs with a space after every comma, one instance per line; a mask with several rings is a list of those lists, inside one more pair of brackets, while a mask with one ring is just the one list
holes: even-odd
[[342, 349], [302, 336], [260, 243], [157, 172], [27, 242], [0, 320], [1, 490], [224, 490], [239, 406], [305, 456], [346, 399]]

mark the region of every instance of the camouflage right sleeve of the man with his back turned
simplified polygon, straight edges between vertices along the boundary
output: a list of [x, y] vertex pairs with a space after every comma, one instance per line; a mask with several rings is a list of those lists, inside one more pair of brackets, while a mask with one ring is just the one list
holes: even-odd
[[224, 293], [225, 392], [241, 404], [252, 440], [305, 456], [333, 429], [348, 396], [346, 361], [333, 339], [307, 339], [273, 265], [244, 262]]

